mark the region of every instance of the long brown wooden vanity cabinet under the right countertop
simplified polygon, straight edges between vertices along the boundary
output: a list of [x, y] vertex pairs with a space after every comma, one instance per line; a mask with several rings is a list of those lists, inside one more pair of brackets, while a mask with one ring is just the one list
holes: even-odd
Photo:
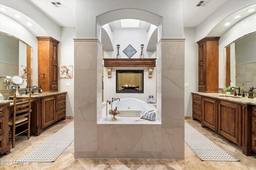
[[256, 152], [256, 106], [215, 96], [192, 96], [193, 119], [196, 118], [194, 110], [200, 106], [195, 101], [202, 98], [202, 127], [208, 127], [236, 143], [246, 156], [250, 156], [252, 151]]

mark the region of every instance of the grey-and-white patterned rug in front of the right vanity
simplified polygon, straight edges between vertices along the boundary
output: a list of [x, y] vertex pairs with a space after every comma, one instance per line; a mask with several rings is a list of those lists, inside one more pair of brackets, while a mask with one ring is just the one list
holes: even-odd
[[239, 161], [204, 134], [185, 122], [185, 142], [204, 161]]

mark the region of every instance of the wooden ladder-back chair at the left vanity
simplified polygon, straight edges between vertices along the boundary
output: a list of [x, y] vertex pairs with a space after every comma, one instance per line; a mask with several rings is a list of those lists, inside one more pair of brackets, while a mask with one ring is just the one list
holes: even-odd
[[[16, 136], [24, 132], [27, 132], [28, 139], [30, 138], [31, 92], [29, 92], [28, 98], [22, 98], [18, 100], [16, 98], [16, 94], [14, 93], [12, 110], [13, 110], [12, 115], [11, 117], [9, 117], [9, 127], [10, 127], [9, 132], [12, 133], [12, 148], [14, 148]], [[21, 125], [23, 126], [20, 127], [19, 129], [22, 129], [22, 130], [19, 132], [16, 132], [16, 127], [19, 127]]]

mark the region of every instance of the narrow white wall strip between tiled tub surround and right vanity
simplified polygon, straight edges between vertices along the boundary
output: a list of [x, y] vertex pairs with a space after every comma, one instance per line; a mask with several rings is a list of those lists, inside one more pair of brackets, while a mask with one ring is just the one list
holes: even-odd
[[198, 91], [198, 44], [196, 43], [196, 28], [185, 27], [185, 87], [184, 116], [192, 116], [192, 95], [191, 92]]

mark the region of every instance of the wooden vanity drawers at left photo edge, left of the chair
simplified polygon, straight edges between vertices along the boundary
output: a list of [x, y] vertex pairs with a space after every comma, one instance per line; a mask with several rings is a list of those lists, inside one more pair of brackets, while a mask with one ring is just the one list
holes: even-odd
[[0, 155], [10, 153], [8, 139], [8, 108], [9, 104], [0, 104]]

